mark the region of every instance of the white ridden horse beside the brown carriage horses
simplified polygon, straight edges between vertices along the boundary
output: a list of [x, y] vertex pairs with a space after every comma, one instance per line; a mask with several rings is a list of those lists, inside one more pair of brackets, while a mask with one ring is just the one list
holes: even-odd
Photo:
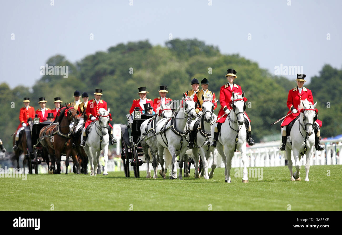
[[104, 108], [100, 108], [98, 110], [100, 113], [99, 120], [95, 121], [95, 123], [90, 127], [90, 132], [86, 141], [86, 147], [84, 147], [84, 151], [87, 153], [90, 164], [90, 176], [96, 176], [96, 168], [101, 150], [103, 150], [105, 160], [103, 175], [108, 175], [107, 162], [109, 134], [107, 127], [109, 123], [109, 110], [110, 109], [107, 111]]

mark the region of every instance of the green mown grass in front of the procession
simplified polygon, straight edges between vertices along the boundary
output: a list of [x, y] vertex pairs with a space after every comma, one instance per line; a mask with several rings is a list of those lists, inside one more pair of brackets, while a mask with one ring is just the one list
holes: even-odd
[[[327, 171], [330, 176], [327, 176]], [[131, 172], [133, 175], [133, 172]], [[159, 175], [159, 174], [158, 174]], [[167, 174], [168, 175], [168, 174]], [[311, 166], [305, 182], [291, 182], [289, 169], [264, 167], [263, 179], [241, 183], [234, 177], [224, 183], [224, 168], [216, 168], [209, 180], [125, 178], [123, 172], [97, 175], [28, 175], [0, 178], [1, 211], [341, 211], [342, 167]]]

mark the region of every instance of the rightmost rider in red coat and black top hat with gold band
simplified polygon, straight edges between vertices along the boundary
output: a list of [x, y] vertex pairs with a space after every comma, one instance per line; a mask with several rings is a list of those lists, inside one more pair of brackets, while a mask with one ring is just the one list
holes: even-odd
[[[290, 122], [292, 122], [292, 120], [297, 118], [297, 116], [300, 115], [300, 113], [297, 110], [298, 106], [300, 105], [300, 102], [302, 100], [307, 99], [312, 104], [314, 103], [312, 92], [303, 86], [304, 82], [306, 82], [306, 80], [304, 80], [305, 77], [306, 77], [305, 74], [297, 73], [297, 79], [295, 79], [295, 81], [297, 81], [297, 87], [295, 87], [294, 89], [291, 89], [287, 97], [286, 105], [289, 108], [289, 112], [287, 114], [290, 114], [290, 113], [292, 114], [287, 116], [284, 119], [284, 121], [282, 121], [281, 123], [281, 127], [283, 127], [282, 133], [281, 133], [282, 135], [281, 147], [280, 147], [281, 151], [285, 151], [285, 148], [286, 148], [286, 126]], [[318, 110], [316, 109], [316, 113], [317, 112]], [[315, 133], [317, 132], [315, 136], [315, 147], [316, 147], [316, 150], [321, 151], [321, 150], [324, 150], [323, 144], [319, 143], [319, 136], [320, 136], [319, 127], [322, 126], [322, 121], [317, 119], [315, 121], [315, 124], [316, 124], [316, 128], [314, 128], [314, 130], [315, 130]]]

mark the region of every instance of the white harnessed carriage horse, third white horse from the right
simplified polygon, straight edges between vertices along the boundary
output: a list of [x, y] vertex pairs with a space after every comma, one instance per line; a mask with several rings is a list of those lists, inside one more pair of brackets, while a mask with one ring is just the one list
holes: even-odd
[[[217, 116], [213, 113], [215, 103], [212, 102], [213, 95], [210, 97], [203, 97], [202, 95], [202, 112], [203, 114], [200, 116], [200, 121], [198, 128], [196, 130], [196, 143], [193, 148], [194, 154], [194, 163], [195, 163], [195, 178], [199, 178], [199, 171], [198, 171], [198, 164], [199, 164], [199, 155], [200, 153], [202, 157], [202, 172], [205, 179], [212, 178], [214, 175], [214, 170], [216, 168], [216, 158], [217, 158], [217, 151], [216, 148], [211, 147], [210, 143], [212, 142], [211, 136], [211, 126], [210, 123], [217, 119]], [[210, 158], [210, 152], [213, 156], [213, 162], [211, 164], [211, 172], [208, 175], [208, 161]]]

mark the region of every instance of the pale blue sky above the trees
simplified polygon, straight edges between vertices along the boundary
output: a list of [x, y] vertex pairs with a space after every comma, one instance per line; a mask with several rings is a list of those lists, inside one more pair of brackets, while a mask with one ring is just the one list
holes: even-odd
[[169, 33], [239, 53], [271, 73], [280, 64], [303, 66], [310, 80], [324, 64], [342, 68], [339, 0], [291, 0], [291, 6], [289, 0], [212, 0], [211, 6], [208, 0], [50, 2], [1, 0], [0, 83], [33, 85], [40, 66], [56, 54], [74, 63], [121, 42], [164, 45]]

